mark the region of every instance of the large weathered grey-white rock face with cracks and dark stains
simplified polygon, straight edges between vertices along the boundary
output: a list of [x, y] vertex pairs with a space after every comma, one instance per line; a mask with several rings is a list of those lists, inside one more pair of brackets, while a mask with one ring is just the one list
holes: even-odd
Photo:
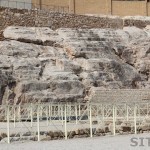
[[92, 87], [150, 88], [150, 30], [8, 27], [0, 102], [86, 101]]

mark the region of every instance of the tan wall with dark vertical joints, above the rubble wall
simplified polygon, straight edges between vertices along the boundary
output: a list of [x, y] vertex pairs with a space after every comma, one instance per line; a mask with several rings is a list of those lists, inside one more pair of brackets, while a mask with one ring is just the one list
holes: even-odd
[[[105, 14], [119, 16], [144, 15], [149, 16], [150, 3], [147, 1], [118, 1], [118, 0], [32, 0], [43, 8], [51, 5], [69, 7], [70, 13], [75, 14]], [[49, 5], [49, 6], [48, 6]]]

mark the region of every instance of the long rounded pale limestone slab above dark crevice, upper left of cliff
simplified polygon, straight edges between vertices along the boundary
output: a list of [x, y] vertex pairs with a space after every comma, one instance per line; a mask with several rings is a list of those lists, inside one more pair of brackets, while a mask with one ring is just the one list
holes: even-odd
[[4, 37], [22, 42], [43, 44], [49, 46], [61, 46], [62, 39], [50, 28], [38, 27], [7, 27], [4, 31]]

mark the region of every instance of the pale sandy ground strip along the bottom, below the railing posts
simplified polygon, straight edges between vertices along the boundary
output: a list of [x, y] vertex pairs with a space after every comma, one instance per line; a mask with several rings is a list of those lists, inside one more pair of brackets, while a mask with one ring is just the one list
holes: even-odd
[[[131, 146], [131, 138], [136, 137], [137, 146]], [[149, 150], [148, 141], [144, 139], [140, 146], [139, 138], [150, 138], [150, 134], [117, 135], [96, 138], [56, 140], [48, 142], [17, 142], [0, 144], [0, 150]]]

